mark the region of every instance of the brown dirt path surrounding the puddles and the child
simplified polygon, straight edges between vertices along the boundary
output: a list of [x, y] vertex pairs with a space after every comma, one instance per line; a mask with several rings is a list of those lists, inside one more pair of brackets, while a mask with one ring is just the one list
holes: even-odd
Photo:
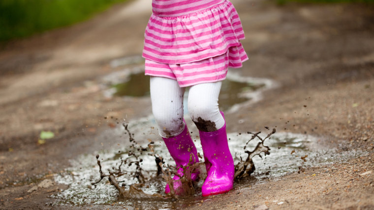
[[[269, 126], [311, 133], [338, 152], [364, 150], [369, 155], [237, 188], [191, 208], [374, 209], [373, 7], [233, 3], [250, 56], [237, 71], [274, 79], [280, 87], [226, 116], [232, 125], [228, 130]], [[141, 53], [149, 15], [149, 1], [130, 1], [85, 23], [3, 47], [0, 208], [63, 208], [48, 196], [67, 186], [28, 190], [52, 179], [69, 159], [115, 148], [123, 141], [112, 132], [116, 122], [151, 113], [148, 97], [107, 98], [100, 83], [102, 76], [119, 70], [110, 67], [111, 60]], [[38, 145], [40, 131], [47, 130], [56, 137]]]

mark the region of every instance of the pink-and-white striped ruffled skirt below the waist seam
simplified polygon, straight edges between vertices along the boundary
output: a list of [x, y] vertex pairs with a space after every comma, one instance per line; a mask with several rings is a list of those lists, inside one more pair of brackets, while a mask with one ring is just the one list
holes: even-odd
[[145, 31], [145, 74], [176, 79], [181, 87], [226, 78], [248, 56], [244, 31], [229, 1], [177, 17], [152, 14]]

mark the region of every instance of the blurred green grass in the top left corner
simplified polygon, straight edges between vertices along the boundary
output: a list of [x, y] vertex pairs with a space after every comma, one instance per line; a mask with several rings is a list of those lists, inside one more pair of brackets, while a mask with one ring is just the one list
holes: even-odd
[[125, 0], [0, 0], [0, 41], [67, 26]]

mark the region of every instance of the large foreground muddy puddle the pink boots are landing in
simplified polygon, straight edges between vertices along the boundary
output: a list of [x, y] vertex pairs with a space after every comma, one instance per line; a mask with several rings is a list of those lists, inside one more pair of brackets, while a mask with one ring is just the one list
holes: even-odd
[[[152, 120], [147, 122], [142, 123], [141, 126], [147, 125], [149, 126], [148, 128], [156, 126], [152, 123]], [[267, 132], [264, 131], [264, 133]], [[240, 161], [240, 157], [243, 159], [247, 157], [243, 152], [243, 145], [246, 144], [250, 137], [251, 135], [248, 133], [228, 133], [229, 147], [233, 157], [235, 157], [235, 163]], [[202, 154], [198, 138], [194, 136], [194, 139], [196, 140], [195, 144], [198, 152]], [[365, 155], [361, 151], [337, 153], [336, 149], [321, 148], [318, 146], [318, 142], [321, 140], [319, 137], [298, 133], [279, 132], [273, 134], [265, 142], [265, 145], [271, 148], [270, 155], [263, 156], [263, 158], [254, 157], [255, 172], [244, 180], [236, 181], [234, 190], [251, 187], [254, 184], [265, 182], [269, 178], [277, 178], [287, 173], [298, 171], [300, 167], [344, 162], [351, 158]], [[247, 149], [251, 151], [257, 143], [258, 140], [250, 141]], [[144, 145], [146, 145], [145, 142]], [[97, 154], [99, 154], [99, 159], [103, 167], [102, 170], [105, 172], [113, 166], [118, 167], [119, 159], [128, 157], [127, 153], [128, 149], [125, 146], [121, 150], [99, 151]], [[155, 142], [155, 153], [164, 157], [166, 164], [173, 165], [173, 161], [161, 141]], [[144, 170], [144, 176], [147, 181], [144, 186], [139, 188], [147, 194], [163, 194], [166, 183], [161, 176], [156, 176], [155, 158], [147, 154], [143, 154], [140, 158], [143, 159], [140, 165]], [[180, 197], [178, 200], [142, 195], [137, 198], [119, 198], [118, 191], [109, 183], [108, 179], [104, 178], [104, 180], [94, 186], [91, 184], [100, 177], [95, 154], [86, 154], [75, 160], [71, 160], [71, 165], [72, 167], [67, 168], [65, 172], [55, 176], [57, 183], [68, 185], [68, 189], [53, 196], [62, 205], [116, 205], [128, 209], [175, 209], [197, 205], [202, 199], [212, 199], [201, 196], [199, 187], [202, 181], [197, 184], [198, 187], [196, 188], [195, 195]], [[126, 166], [125, 170], [135, 171], [135, 167], [135, 165]], [[121, 177], [118, 181], [127, 185], [137, 183], [137, 179], [133, 174]], [[129, 187], [126, 187], [126, 190], [128, 190]]]

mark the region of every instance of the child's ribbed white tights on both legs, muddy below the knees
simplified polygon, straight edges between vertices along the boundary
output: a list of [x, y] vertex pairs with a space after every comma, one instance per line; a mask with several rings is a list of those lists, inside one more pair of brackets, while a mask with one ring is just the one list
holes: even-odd
[[[196, 84], [188, 93], [188, 112], [200, 131], [211, 132], [222, 128], [225, 121], [218, 109], [218, 95], [221, 81]], [[177, 80], [151, 77], [152, 111], [162, 137], [180, 134], [183, 122], [183, 96], [185, 87], [179, 87]]]

